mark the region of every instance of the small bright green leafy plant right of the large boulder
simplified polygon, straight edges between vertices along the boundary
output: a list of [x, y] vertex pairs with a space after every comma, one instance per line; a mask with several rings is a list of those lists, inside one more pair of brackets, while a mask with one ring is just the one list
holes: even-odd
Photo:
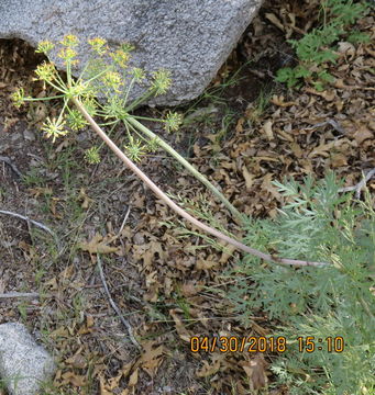
[[298, 65], [277, 71], [276, 81], [287, 83], [288, 88], [299, 87], [302, 81], [323, 90], [327, 82], [334, 80], [326, 70], [326, 65], [334, 64], [338, 58], [334, 44], [348, 36], [352, 43], [367, 42], [368, 35], [361, 32], [350, 34], [348, 26], [366, 14], [365, 2], [352, 0], [323, 0], [321, 2], [322, 25], [313, 29], [300, 40], [289, 40], [296, 50]]

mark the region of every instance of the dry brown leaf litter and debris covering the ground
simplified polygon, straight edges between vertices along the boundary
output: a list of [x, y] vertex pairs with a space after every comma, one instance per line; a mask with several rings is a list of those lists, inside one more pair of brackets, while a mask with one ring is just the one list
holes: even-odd
[[[273, 180], [309, 173], [320, 178], [334, 169], [350, 188], [375, 167], [373, 16], [356, 26], [372, 35], [372, 43], [339, 44], [338, 64], [329, 70], [335, 82], [326, 91], [305, 87], [288, 92], [277, 84], [269, 89], [276, 70], [293, 61], [285, 40], [307, 31], [316, 14], [317, 2], [266, 3], [213, 81], [219, 87], [244, 59], [256, 60], [245, 65], [245, 79], [225, 93], [235, 110], [227, 135], [217, 133], [223, 125], [220, 104], [212, 108], [203, 102], [206, 115], [186, 125], [185, 134], [196, 136], [190, 160], [247, 215], [276, 215], [283, 202]], [[0, 218], [0, 294], [38, 294], [1, 298], [0, 319], [24, 320], [55, 352], [60, 363], [51, 393], [246, 394], [269, 384], [269, 356], [189, 350], [194, 336], [272, 332], [262, 312], [250, 327], [241, 327], [231, 306], [210, 292], [225, 290], [222, 272], [235, 264], [238, 252], [225, 246], [218, 251], [209, 240], [170, 227], [174, 215], [134, 177], [113, 170], [110, 156], [93, 170], [82, 168], [87, 134], [57, 147], [46, 144], [30, 123], [37, 125], [56, 109], [26, 113], [15, 111], [8, 100], [21, 82], [29, 81], [34, 94], [42, 92], [32, 81], [41, 59], [22, 42], [0, 41], [0, 156], [27, 177], [21, 182], [9, 163], [0, 161], [0, 207], [48, 224], [65, 246], [56, 251], [51, 239], [26, 223]], [[269, 90], [264, 106], [251, 93], [261, 86]], [[186, 148], [183, 137], [175, 143]], [[58, 161], [62, 155], [68, 165]], [[157, 183], [172, 193], [177, 190], [191, 205], [206, 199], [218, 223], [241, 235], [225, 210], [195, 180], [170, 171], [169, 160], [153, 157], [148, 163]], [[367, 188], [374, 192], [374, 178]], [[142, 352], [111, 311], [97, 252], [102, 253], [111, 296]], [[286, 393], [277, 388], [273, 394]]]

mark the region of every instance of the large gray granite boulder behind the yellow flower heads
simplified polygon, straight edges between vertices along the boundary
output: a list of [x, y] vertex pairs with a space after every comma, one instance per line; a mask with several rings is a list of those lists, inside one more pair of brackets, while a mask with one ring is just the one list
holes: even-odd
[[101, 36], [112, 46], [126, 41], [136, 47], [135, 66], [172, 71], [170, 92], [157, 98], [158, 104], [172, 105], [202, 92], [262, 1], [1, 0], [0, 38], [18, 37], [34, 46], [67, 33], [84, 41]]

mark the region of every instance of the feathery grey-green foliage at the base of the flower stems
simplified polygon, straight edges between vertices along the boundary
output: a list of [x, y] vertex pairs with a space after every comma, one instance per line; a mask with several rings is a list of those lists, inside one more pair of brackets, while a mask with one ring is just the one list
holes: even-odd
[[[277, 253], [331, 262], [287, 268], [246, 256], [230, 274], [229, 297], [244, 323], [257, 311], [279, 327], [288, 351], [272, 370], [291, 394], [370, 394], [375, 390], [375, 211], [341, 194], [333, 173], [304, 185], [276, 182], [287, 200], [276, 219], [249, 219], [246, 241]], [[300, 352], [297, 337], [342, 336], [344, 352]], [[326, 341], [326, 340], [323, 340]], [[366, 392], [367, 391], [367, 392]]]

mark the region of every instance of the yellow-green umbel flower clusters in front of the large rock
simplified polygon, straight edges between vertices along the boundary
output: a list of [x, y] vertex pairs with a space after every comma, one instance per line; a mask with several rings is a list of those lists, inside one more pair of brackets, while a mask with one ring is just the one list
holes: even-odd
[[[130, 122], [137, 119], [131, 115], [131, 112], [151, 97], [166, 93], [172, 83], [170, 72], [159, 69], [147, 78], [141, 68], [129, 66], [130, 53], [134, 49], [132, 45], [124, 43], [115, 49], [110, 49], [104, 38], [95, 37], [88, 40], [91, 50], [89, 60], [78, 78], [74, 78], [73, 70], [79, 64], [78, 45], [79, 40], [73, 34], [64, 36], [57, 48], [49, 41], [41, 42], [36, 53], [48, 57], [52, 50], [57, 50], [57, 56], [64, 61], [66, 77], [62, 77], [54, 63], [42, 63], [36, 67], [35, 80], [42, 81], [44, 89], [49, 87], [54, 94], [34, 99], [25, 95], [23, 88], [19, 88], [11, 95], [14, 104], [20, 108], [25, 102], [62, 99], [64, 104], [59, 115], [47, 117], [42, 126], [45, 136], [55, 142], [70, 131], [79, 131], [88, 125], [81, 112], [70, 102], [73, 98], [78, 99], [91, 116], [102, 119], [103, 123], [100, 125], [109, 126], [110, 132], [119, 124], [124, 125], [128, 135], [124, 148], [132, 160], [139, 161], [143, 155], [155, 151], [158, 148], [156, 136], [148, 129], [150, 133], [145, 129], [140, 133]], [[135, 84], [145, 86], [145, 93], [130, 102], [130, 92]], [[106, 100], [98, 101], [98, 97]], [[178, 113], [168, 112], [164, 120], [152, 121], [162, 122], [167, 132], [177, 132], [183, 117]], [[90, 163], [99, 162], [100, 148], [91, 147], [86, 151], [85, 158]]]

